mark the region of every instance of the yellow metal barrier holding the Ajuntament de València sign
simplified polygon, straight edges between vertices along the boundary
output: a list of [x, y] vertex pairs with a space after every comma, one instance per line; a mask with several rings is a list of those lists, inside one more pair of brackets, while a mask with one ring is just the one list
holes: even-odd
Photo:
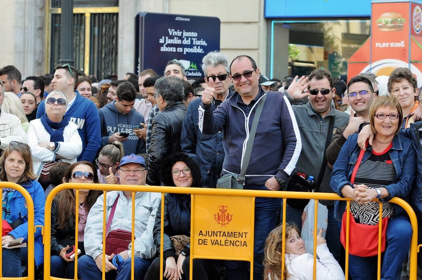
[[[157, 187], [157, 186], [131, 186], [131, 185], [108, 185], [108, 184], [81, 184], [81, 183], [66, 183], [61, 184], [55, 187], [49, 194], [46, 200], [46, 208], [45, 208], [45, 236], [44, 236], [44, 279], [60, 279], [50, 276], [50, 236], [51, 236], [51, 203], [54, 199], [54, 196], [63, 189], [76, 189], [76, 211], [78, 211], [78, 190], [79, 189], [92, 189], [92, 190], [103, 190], [104, 191], [104, 208], [103, 208], [103, 240], [106, 239], [106, 190], [109, 191], [126, 191], [132, 192], [132, 244], [134, 242], [134, 232], [135, 232], [135, 192], [158, 192], [162, 193], [162, 200], [161, 200], [161, 244], [163, 244], [163, 219], [164, 219], [164, 194], [165, 193], [175, 193], [175, 194], [190, 194], [191, 195], [191, 217], [194, 216], [194, 205], [195, 205], [195, 195], [211, 195], [211, 196], [223, 196], [227, 197], [252, 197], [252, 201], [254, 203], [254, 197], [276, 197], [283, 199], [283, 221], [286, 220], [286, 200], [288, 198], [303, 198], [303, 199], [315, 199], [315, 211], [317, 211], [318, 207], [318, 200], [344, 200], [347, 201], [347, 211], [349, 211], [350, 199], [345, 197], [339, 197], [333, 193], [312, 193], [312, 192], [271, 192], [271, 191], [258, 191], [258, 190], [235, 190], [235, 189], [206, 189], [206, 188], [185, 188], [185, 187]], [[375, 200], [377, 201], [377, 200]], [[400, 198], [393, 198], [390, 200], [390, 203], [395, 203], [400, 205], [410, 217], [410, 222], [412, 226], [412, 238], [411, 238], [411, 246], [410, 246], [410, 279], [416, 280], [417, 274], [417, 219], [415, 213], [410, 205], [408, 205], [404, 200]], [[380, 203], [380, 218], [382, 214], [382, 203]], [[315, 217], [317, 217], [317, 212], [315, 213]], [[349, 252], [349, 215], [347, 217], [347, 233], [346, 233], [346, 280], [348, 279], [348, 252]], [[76, 213], [76, 229], [75, 229], [75, 240], [78, 237], [78, 213]], [[253, 221], [254, 216], [252, 212], [252, 244], [253, 244]], [[380, 219], [381, 220], [381, 219]], [[33, 222], [33, 219], [32, 219]], [[315, 219], [314, 227], [317, 227], [317, 220]], [[285, 223], [283, 224], [283, 236], [282, 242], [285, 244]], [[195, 252], [195, 239], [193, 237], [194, 232], [194, 223], [193, 220], [191, 221], [191, 252]], [[314, 230], [314, 252], [316, 252], [317, 246], [317, 230]], [[379, 227], [379, 238], [381, 237], [381, 226]], [[33, 237], [32, 237], [33, 238]], [[32, 240], [33, 242], [33, 240]], [[75, 242], [75, 247], [77, 251], [77, 242]], [[379, 243], [381, 244], [381, 243]], [[103, 242], [103, 267], [105, 267], [105, 246], [106, 243]], [[132, 246], [132, 275], [131, 279], [134, 279], [134, 245]], [[381, 256], [381, 246], [379, 245], [378, 248], [378, 279], [380, 279], [380, 256]], [[284, 253], [285, 248], [282, 246], [282, 262], [281, 267], [282, 271], [284, 271]], [[163, 256], [163, 246], [160, 247], [160, 256]], [[1, 257], [1, 256], [0, 256]], [[192, 262], [195, 258], [208, 258], [208, 259], [230, 259], [230, 260], [246, 260], [245, 258], [236, 258], [236, 257], [216, 257], [216, 256], [195, 256], [194, 253], [190, 255], [190, 270], [189, 270], [189, 278], [192, 279]], [[251, 256], [247, 258], [251, 261], [251, 280], [253, 278], [253, 248], [251, 252]], [[317, 279], [316, 277], [316, 258], [314, 257], [314, 280]], [[160, 275], [163, 274], [163, 259], [160, 259]], [[283, 279], [283, 276], [281, 276]], [[75, 257], [75, 278], [77, 279], [77, 255]], [[105, 279], [105, 270], [103, 269], [103, 279]]]

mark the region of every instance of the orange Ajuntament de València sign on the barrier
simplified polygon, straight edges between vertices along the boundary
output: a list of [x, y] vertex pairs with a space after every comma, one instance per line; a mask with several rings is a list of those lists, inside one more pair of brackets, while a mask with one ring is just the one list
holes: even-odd
[[251, 258], [252, 197], [195, 195], [193, 204], [191, 250], [194, 257]]

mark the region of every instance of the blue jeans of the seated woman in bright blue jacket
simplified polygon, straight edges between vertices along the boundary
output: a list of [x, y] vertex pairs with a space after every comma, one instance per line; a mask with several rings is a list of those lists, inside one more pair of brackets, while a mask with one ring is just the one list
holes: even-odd
[[28, 264], [28, 249], [1, 249], [3, 277], [22, 277], [22, 266]]

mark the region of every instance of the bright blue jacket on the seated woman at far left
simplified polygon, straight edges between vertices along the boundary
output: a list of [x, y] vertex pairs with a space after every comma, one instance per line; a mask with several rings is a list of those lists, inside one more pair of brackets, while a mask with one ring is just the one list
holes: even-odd
[[[30, 180], [21, 183], [20, 185], [29, 192], [32, 197], [32, 201], [34, 202], [34, 227], [37, 225], [44, 226], [44, 207], [46, 204], [46, 197], [44, 195], [43, 187], [41, 187], [40, 183], [35, 180]], [[21, 217], [25, 217], [25, 222], [9, 232], [8, 235], [12, 235], [15, 239], [23, 237], [24, 242], [28, 242], [28, 205], [25, 197], [23, 197], [18, 191], [14, 192], [10, 201], [10, 212], [14, 221], [19, 219], [20, 213]], [[30, 234], [33, 234], [33, 232]], [[41, 235], [40, 228], [37, 228], [37, 231], [35, 232], [34, 242], [35, 265], [38, 266], [44, 262], [43, 236]]]

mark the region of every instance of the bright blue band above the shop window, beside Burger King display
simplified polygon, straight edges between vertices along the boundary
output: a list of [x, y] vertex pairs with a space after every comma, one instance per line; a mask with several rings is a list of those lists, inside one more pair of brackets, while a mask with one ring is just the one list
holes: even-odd
[[265, 0], [265, 18], [370, 17], [371, 0]]

